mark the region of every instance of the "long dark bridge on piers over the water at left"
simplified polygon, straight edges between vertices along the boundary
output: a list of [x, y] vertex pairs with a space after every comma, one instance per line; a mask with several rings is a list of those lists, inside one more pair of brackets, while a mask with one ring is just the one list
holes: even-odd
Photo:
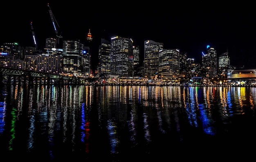
[[85, 84], [88, 78], [0, 67], [0, 84]]

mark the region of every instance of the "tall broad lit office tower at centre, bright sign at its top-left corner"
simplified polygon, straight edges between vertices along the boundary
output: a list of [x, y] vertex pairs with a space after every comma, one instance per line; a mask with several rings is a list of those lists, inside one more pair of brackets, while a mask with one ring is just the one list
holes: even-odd
[[110, 73], [111, 75], [132, 76], [132, 44], [133, 40], [113, 36], [110, 41]]

